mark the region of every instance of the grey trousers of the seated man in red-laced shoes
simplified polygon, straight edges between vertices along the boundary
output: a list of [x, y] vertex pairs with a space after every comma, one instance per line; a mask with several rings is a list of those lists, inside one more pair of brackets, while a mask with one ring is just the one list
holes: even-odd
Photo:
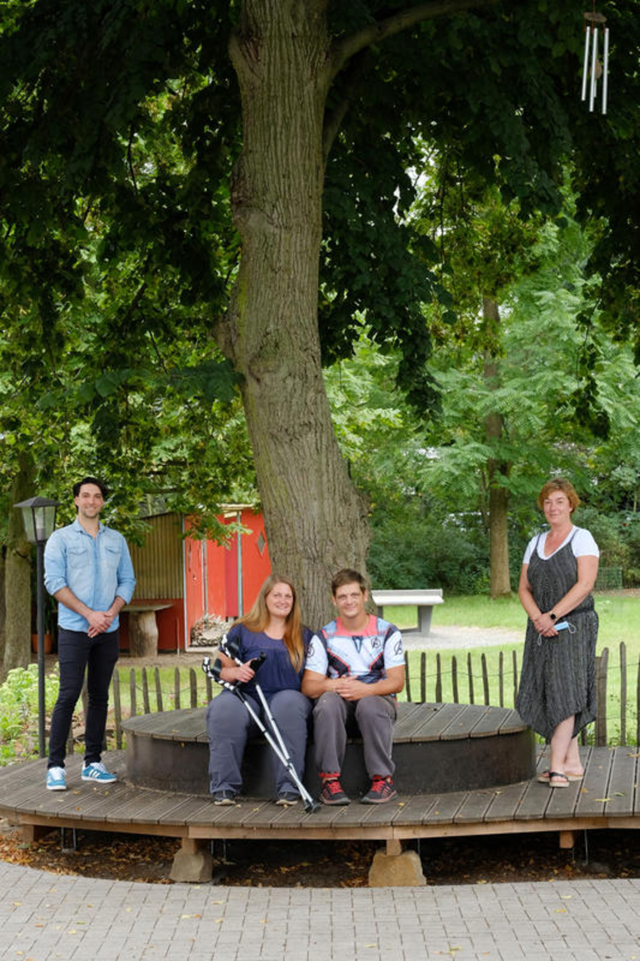
[[359, 701], [345, 701], [339, 694], [326, 691], [313, 708], [313, 742], [315, 764], [319, 772], [342, 771], [347, 747], [347, 727], [356, 722], [364, 742], [364, 766], [369, 777], [393, 775], [391, 759], [393, 723], [396, 720], [394, 698], [377, 694]]

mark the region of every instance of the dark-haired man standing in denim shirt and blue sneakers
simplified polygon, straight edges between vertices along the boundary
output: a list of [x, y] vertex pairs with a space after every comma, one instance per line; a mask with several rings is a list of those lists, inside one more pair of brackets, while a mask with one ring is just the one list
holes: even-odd
[[47, 787], [64, 791], [64, 756], [73, 711], [86, 674], [85, 764], [82, 779], [117, 778], [100, 757], [107, 725], [109, 684], [118, 658], [118, 614], [134, 594], [135, 577], [122, 534], [100, 523], [107, 488], [85, 478], [73, 486], [78, 516], [55, 530], [44, 552], [44, 583], [59, 602], [60, 693], [51, 718]]

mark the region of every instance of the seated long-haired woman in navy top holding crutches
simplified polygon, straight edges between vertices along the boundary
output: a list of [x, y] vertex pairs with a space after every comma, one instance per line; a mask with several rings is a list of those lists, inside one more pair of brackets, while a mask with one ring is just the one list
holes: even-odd
[[[307, 750], [308, 716], [311, 702], [300, 692], [311, 631], [301, 624], [300, 607], [291, 581], [270, 575], [260, 587], [249, 613], [235, 622], [228, 640], [238, 650], [238, 665], [220, 653], [220, 677], [242, 684], [262, 722], [268, 727], [256, 695], [256, 674], [250, 661], [266, 654], [259, 668], [259, 685], [269, 704], [274, 721], [283, 736], [293, 766], [302, 779]], [[240, 768], [247, 739], [258, 733], [256, 722], [233, 693], [223, 690], [209, 702], [209, 785], [215, 804], [233, 804], [242, 787]], [[275, 753], [274, 780], [276, 803], [295, 804], [300, 794], [291, 776]]]

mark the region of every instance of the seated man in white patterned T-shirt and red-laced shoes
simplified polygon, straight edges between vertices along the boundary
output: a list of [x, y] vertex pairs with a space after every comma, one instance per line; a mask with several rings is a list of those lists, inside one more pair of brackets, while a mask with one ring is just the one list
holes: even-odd
[[367, 598], [361, 574], [338, 571], [332, 579], [338, 616], [313, 635], [308, 649], [302, 692], [317, 699], [313, 741], [324, 804], [349, 803], [339, 777], [351, 719], [362, 735], [371, 778], [362, 803], [382, 804], [396, 797], [391, 750], [396, 694], [405, 686], [403, 640], [395, 625], [367, 614]]

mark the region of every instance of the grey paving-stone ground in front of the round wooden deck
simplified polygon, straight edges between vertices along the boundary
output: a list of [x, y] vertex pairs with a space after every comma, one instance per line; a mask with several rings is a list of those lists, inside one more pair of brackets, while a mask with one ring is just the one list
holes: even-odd
[[1, 961], [640, 961], [640, 879], [248, 888], [0, 862]]

